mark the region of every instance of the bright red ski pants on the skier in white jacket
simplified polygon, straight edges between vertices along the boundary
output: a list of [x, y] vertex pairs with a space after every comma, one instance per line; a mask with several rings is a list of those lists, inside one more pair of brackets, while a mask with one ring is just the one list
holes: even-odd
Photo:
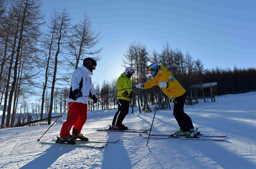
[[[69, 118], [65, 121], [61, 128], [60, 136], [70, 135], [70, 130], [74, 125], [73, 129], [81, 132], [84, 123], [87, 120], [87, 104], [68, 102], [69, 107]], [[71, 105], [70, 105], [71, 104]]]

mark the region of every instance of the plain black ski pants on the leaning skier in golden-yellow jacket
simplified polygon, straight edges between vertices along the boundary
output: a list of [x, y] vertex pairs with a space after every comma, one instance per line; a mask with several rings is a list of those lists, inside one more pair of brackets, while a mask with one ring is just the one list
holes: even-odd
[[190, 131], [190, 129], [193, 129], [194, 126], [191, 118], [186, 113], [184, 113], [185, 101], [186, 93], [174, 99], [173, 115], [176, 118], [180, 129], [183, 131]]

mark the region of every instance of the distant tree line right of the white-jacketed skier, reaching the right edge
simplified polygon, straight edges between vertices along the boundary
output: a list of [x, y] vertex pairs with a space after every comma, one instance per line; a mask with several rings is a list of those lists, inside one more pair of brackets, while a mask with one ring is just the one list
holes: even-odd
[[[187, 100], [197, 99], [198, 88], [195, 85], [217, 82], [215, 95], [239, 94], [256, 91], [256, 68], [204, 68], [200, 59], [193, 59], [188, 51], [183, 52], [179, 48], [171, 48], [166, 42], [161, 51], [148, 50], [147, 45], [140, 42], [131, 42], [123, 57], [123, 67], [132, 67], [136, 73], [132, 76], [134, 86], [138, 83], [148, 82], [152, 76], [145, 70], [151, 63], [157, 63], [166, 67], [180, 84], [185, 88]], [[116, 80], [104, 82], [99, 93], [116, 90]], [[99, 89], [99, 88], [98, 88]], [[200, 89], [199, 89], [200, 90]], [[192, 95], [191, 95], [192, 93]], [[102, 95], [104, 97], [105, 95]], [[115, 94], [113, 94], [115, 96]], [[139, 97], [138, 97], [139, 96]], [[109, 94], [107, 96], [109, 97]], [[206, 96], [207, 97], [207, 96]], [[209, 97], [209, 96], [208, 96]], [[102, 109], [115, 108], [116, 98], [105, 99]], [[134, 88], [134, 106], [148, 107], [156, 103], [166, 103], [169, 106], [169, 98], [155, 86], [151, 89]], [[132, 101], [131, 101], [132, 104]]]

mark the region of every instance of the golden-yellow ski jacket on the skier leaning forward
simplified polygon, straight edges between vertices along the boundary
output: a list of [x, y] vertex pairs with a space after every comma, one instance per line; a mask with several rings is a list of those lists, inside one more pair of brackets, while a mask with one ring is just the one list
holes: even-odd
[[170, 99], [174, 100], [176, 97], [179, 97], [186, 93], [186, 90], [180, 85], [180, 83], [174, 78], [171, 72], [167, 71], [167, 68], [159, 65], [159, 71], [157, 76], [151, 79], [149, 82], [143, 83], [143, 89], [151, 88], [155, 85], [159, 86], [159, 82], [165, 81], [169, 84], [168, 88], [163, 87], [162, 91]]

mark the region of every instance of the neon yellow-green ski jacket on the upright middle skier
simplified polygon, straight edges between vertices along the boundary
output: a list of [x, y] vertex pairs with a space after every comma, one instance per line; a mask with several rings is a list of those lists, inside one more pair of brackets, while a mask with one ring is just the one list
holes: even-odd
[[[132, 87], [131, 79], [125, 75], [125, 72], [122, 73], [121, 76], [117, 79], [117, 83], [116, 83], [116, 89], [120, 90], [120, 91], [117, 91], [117, 96], [123, 96], [122, 94], [125, 93], [125, 90], [122, 90], [122, 89], [126, 89], [128, 94], [131, 94], [132, 89], [127, 89], [127, 88], [131, 88], [131, 87]], [[123, 99], [123, 100], [130, 101], [130, 99], [127, 99], [124, 96], [117, 97], [117, 99]]]

